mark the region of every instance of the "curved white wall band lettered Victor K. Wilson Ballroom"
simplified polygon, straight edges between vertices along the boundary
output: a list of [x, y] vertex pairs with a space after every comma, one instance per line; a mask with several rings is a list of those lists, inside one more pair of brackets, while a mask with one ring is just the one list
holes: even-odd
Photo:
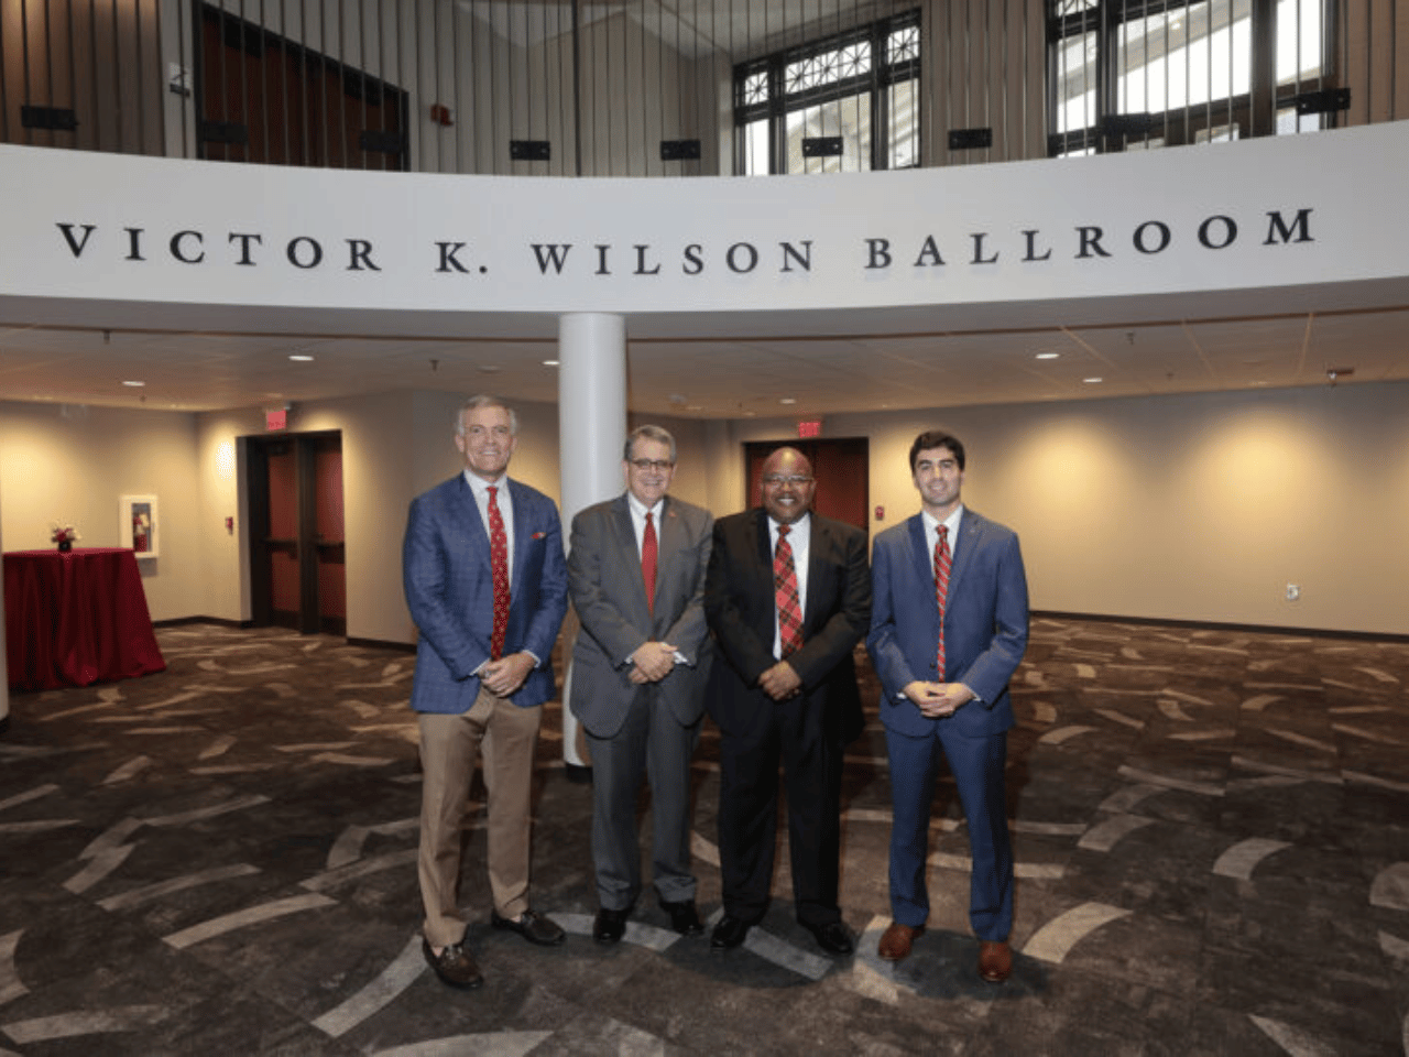
[[437, 176], [0, 147], [0, 310], [8, 302], [14, 317], [18, 303], [42, 321], [48, 304], [72, 321], [87, 302], [345, 309], [359, 331], [378, 313], [418, 313], [427, 333], [471, 321], [552, 333], [545, 314], [612, 311], [643, 335], [719, 330], [735, 313], [862, 311], [872, 330], [913, 320], [899, 310], [940, 309], [952, 324], [985, 306], [1007, 323], [1027, 307], [1089, 320], [1151, 296], [1305, 309], [1308, 288], [1403, 290], [1409, 255], [1386, 221], [1406, 159], [1405, 123], [766, 179]]

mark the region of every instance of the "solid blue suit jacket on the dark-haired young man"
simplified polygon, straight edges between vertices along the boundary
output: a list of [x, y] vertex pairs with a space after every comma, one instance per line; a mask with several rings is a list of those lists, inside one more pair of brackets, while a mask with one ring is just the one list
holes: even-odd
[[934, 729], [914, 702], [900, 696], [921, 682], [962, 682], [982, 702], [952, 717], [971, 737], [1013, 726], [1007, 682], [1027, 650], [1027, 574], [1017, 536], [972, 510], [960, 519], [944, 609], [944, 668], [937, 668], [940, 607], [934, 555], [920, 514], [876, 537], [871, 554], [871, 633], [867, 650], [881, 678], [881, 719], [890, 730], [920, 737]]

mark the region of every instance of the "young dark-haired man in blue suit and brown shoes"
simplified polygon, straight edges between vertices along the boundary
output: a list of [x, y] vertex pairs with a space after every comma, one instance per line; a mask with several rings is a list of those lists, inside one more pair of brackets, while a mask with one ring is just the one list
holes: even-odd
[[1012, 972], [1013, 850], [1003, 768], [1007, 684], [1027, 648], [1027, 575], [1017, 536], [964, 507], [964, 445], [930, 431], [910, 445], [920, 513], [876, 537], [871, 634], [890, 755], [890, 915], [879, 954], [899, 961], [930, 915], [924, 871], [940, 754], [964, 805], [969, 925], [979, 975]]

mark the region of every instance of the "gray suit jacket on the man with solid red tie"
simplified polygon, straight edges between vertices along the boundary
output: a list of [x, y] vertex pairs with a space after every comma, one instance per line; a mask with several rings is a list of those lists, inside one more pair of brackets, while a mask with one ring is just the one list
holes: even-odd
[[568, 593], [582, 622], [572, 650], [572, 715], [593, 737], [612, 737], [634, 696], [628, 658], [644, 643], [671, 643], [685, 664], [654, 684], [685, 726], [704, 710], [712, 643], [704, 623], [704, 571], [714, 519], [665, 497], [659, 524], [655, 610], [645, 605], [641, 552], [626, 495], [589, 506], [572, 519]]

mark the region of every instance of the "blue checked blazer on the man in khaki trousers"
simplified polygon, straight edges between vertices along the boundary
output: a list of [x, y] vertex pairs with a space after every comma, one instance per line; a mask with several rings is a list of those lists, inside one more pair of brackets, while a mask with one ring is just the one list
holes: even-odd
[[[509, 481], [509, 495], [514, 552], [504, 654], [527, 650], [541, 661], [511, 698], [533, 707], [552, 696], [551, 657], [568, 612], [568, 569], [557, 505], [517, 481]], [[495, 585], [489, 533], [464, 474], [411, 500], [402, 576], [420, 630], [411, 707], [468, 712], [479, 696], [472, 672], [489, 660]]]

